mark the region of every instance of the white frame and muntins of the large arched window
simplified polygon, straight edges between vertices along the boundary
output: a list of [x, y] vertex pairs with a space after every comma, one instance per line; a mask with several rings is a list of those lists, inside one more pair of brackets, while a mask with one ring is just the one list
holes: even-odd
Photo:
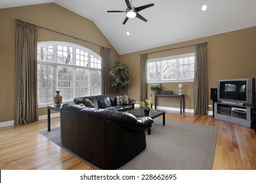
[[[73, 89], [73, 92], [72, 92], [72, 95], [73, 95], [73, 98], [74, 97], [77, 97], [77, 95], [75, 95], [76, 91], [75, 91], [75, 88], [76, 88], [76, 70], [75, 69], [87, 69], [88, 70], [88, 73], [89, 73], [89, 78], [88, 78], [88, 92], [89, 92], [89, 95], [100, 95], [101, 94], [101, 78], [100, 78], [100, 91], [98, 91], [98, 93], [91, 93], [91, 71], [98, 71], [100, 73], [100, 76], [102, 74], [102, 61], [101, 61], [101, 57], [96, 54], [95, 52], [93, 52], [92, 50], [89, 50], [88, 48], [86, 47], [83, 47], [83, 46], [80, 46], [78, 44], [74, 44], [74, 43], [71, 43], [71, 42], [61, 42], [61, 41], [45, 41], [45, 42], [37, 42], [37, 46], [47, 46], [47, 45], [53, 45], [53, 50], [54, 50], [54, 59], [53, 59], [53, 62], [51, 61], [40, 61], [40, 60], [37, 60], [37, 65], [41, 64], [41, 65], [52, 65], [54, 68], [53, 70], [54, 73], [53, 73], [53, 77], [55, 78], [53, 80], [53, 96], [56, 95], [56, 90], [58, 90], [58, 72], [57, 72], [57, 66], [63, 66], [63, 67], [70, 67], [73, 69], [73, 86], [72, 86], [72, 89]], [[58, 51], [57, 51], [57, 46], [69, 46], [69, 47], [72, 47], [72, 64], [64, 64], [64, 63], [58, 63]], [[76, 65], [76, 59], [75, 59], [75, 56], [76, 56], [76, 48], [79, 49], [79, 50], [83, 50], [85, 52], [88, 53], [88, 65], [87, 67], [85, 66], [79, 66], [79, 65]], [[100, 68], [95, 68], [95, 67], [90, 67], [91, 66], [91, 58], [96, 58], [96, 59], [99, 59], [100, 60], [100, 64], [97, 63], [97, 66], [99, 67], [100, 65]], [[80, 62], [81, 63], [81, 62]], [[94, 63], [95, 65], [95, 63]], [[37, 91], [39, 89], [37, 88]], [[61, 92], [60, 92], [60, 95], [61, 95]], [[69, 103], [69, 102], [72, 102], [72, 100], [70, 101], [63, 101], [63, 103]], [[38, 101], [38, 104], [39, 104], [39, 101]], [[46, 107], [47, 105], [52, 105], [52, 103], [43, 103], [43, 104], [39, 104], [38, 107]]]

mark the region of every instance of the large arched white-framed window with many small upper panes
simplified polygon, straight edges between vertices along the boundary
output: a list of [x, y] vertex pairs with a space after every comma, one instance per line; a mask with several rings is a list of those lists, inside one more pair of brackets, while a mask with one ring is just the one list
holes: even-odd
[[101, 94], [101, 57], [70, 42], [38, 42], [38, 105], [53, 103], [60, 90], [62, 102], [74, 97]]

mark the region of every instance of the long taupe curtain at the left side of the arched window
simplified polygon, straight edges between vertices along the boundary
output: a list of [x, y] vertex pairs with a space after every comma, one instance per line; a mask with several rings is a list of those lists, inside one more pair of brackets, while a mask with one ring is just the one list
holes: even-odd
[[37, 29], [16, 21], [14, 125], [38, 120]]

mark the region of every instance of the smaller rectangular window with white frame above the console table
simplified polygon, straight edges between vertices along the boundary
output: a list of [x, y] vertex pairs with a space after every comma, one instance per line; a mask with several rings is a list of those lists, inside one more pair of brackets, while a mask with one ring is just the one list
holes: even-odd
[[194, 80], [195, 53], [147, 60], [147, 82]]

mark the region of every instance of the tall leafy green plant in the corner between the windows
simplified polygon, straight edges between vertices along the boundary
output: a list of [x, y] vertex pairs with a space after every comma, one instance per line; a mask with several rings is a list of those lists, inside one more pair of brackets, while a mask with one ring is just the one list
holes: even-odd
[[122, 93], [123, 88], [130, 84], [129, 67], [127, 63], [122, 63], [118, 58], [115, 60], [115, 65], [110, 71], [113, 78], [111, 86], [114, 87], [119, 93]]

